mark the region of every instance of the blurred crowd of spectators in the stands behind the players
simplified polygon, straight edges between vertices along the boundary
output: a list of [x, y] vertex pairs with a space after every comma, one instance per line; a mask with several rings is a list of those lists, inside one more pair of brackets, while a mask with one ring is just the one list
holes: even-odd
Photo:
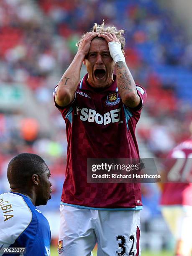
[[[0, 175], [10, 157], [24, 151], [40, 154], [53, 176], [64, 175], [65, 127], [52, 92], [82, 33], [103, 19], [125, 30], [128, 67], [148, 93], [146, 122], [138, 129], [142, 141], [155, 156], [164, 157], [187, 138], [192, 45], [172, 17], [156, 0], [1, 0], [0, 97], [3, 88], [19, 84], [33, 103], [20, 109], [11, 100], [8, 108], [0, 104]], [[38, 108], [31, 115], [33, 104]]]

